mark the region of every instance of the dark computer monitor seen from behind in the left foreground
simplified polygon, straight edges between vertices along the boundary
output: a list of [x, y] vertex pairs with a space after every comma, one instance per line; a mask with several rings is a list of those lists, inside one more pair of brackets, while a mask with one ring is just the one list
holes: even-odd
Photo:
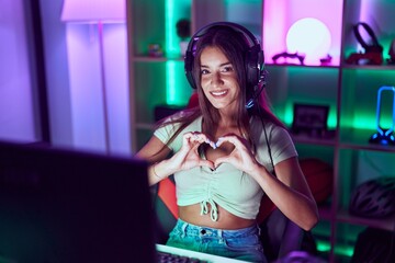
[[0, 141], [0, 262], [155, 262], [147, 163]]

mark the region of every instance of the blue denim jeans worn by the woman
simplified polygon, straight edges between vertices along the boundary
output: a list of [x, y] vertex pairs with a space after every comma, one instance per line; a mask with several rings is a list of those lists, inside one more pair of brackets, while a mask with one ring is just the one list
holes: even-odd
[[259, 240], [258, 226], [222, 230], [178, 219], [167, 245], [250, 262], [268, 262]]

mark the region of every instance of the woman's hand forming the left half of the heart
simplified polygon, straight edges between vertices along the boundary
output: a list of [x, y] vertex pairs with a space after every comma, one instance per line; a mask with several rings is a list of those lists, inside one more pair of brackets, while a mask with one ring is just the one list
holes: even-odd
[[204, 160], [199, 155], [198, 148], [202, 144], [208, 144], [211, 147], [215, 147], [215, 144], [202, 133], [185, 133], [182, 137], [181, 149], [170, 159], [174, 170], [189, 170], [203, 165], [214, 169], [212, 161]]

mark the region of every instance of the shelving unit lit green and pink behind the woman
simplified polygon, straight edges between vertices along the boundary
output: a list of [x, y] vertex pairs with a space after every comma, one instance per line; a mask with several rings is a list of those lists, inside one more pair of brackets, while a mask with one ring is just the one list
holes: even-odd
[[[377, 89], [395, 85], [395, 66], [345, 64], [351, 53], [361, 50], [352, 32], [352, 26], [360, 21], [375, 30], [384, 47], [384, 58], [387, 57], [390, 43], [395, 38], [394, 1], [133, 0], [128, 4], [131, 123], [135, 151], [151, 135], [155, 107], [182, 106], [192, 93], [177, 47], [177, 20], [191, 19], [192, 32], [214, 21], [240, 23], [262, 39], [269, 71], [268, 93], [275, 114], [286, 125], [293, 122], [294, 103], [329, 106], [327, 125], [334, 130], [332, 137], [293, 137], [301, 158], [318, 157], [334, 167], [332, 195], [320, 205], [321, 220], [313, 230], [325, 259], [348, 262], [358, 233], [365, 227], [394, 229], [395, 217], [360, 218], [351, 216], [348, 206], [359, 183], [384, 173], [395, 176], [395, 146], [368, 142], [376, 128]], [[311, 16], [328, 25], [331, 62], [325, 66], [274, 64], [272, 56], [286, 50], [285, 36], [291, 25]], [[154, 43], [162, 47], [163, 57], [148, 57], [148, 46]], [[385, 104], [382, 110], [388, 122], [392, 104]]]

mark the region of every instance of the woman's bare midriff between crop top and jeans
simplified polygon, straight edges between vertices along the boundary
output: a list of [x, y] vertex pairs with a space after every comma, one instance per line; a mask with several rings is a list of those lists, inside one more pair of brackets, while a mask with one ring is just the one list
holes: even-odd
[[[208, 204], [210, 205], [210, 204]], [[218, 220], [213, 221], [207, 215], [201, 215], [201, 205], [194, 204], [190, 206], [179, 206], [179, 217], [183, 221], [203, 226], [203, 227], [211, 227], [211, 228], [218, 228], [218, 229], [227, 229], [227, 230], [235, 230], [247, 228], [256, 224], [255, 219], [245, 219], [238, 216], [230, 214], [229, 211], [225, 210], [223, 207], [217, 205], [218, 209]]]

